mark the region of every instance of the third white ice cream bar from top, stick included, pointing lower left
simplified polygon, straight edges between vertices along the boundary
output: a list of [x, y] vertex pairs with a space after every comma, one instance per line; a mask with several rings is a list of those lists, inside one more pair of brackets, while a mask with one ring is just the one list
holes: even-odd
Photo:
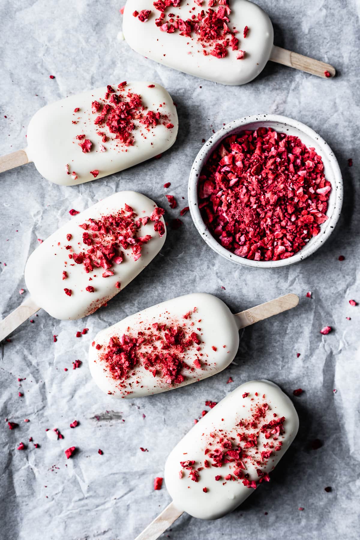
[[[26, 263], [32, 313], [42, 307], [56, 319], [80, 319], [103, 306], [159, 253], [166, 237], [163, 213], [134, 191], [114, 193], [77, 213]], [[28, 306], [29, 300], [17, 310]], [[29, 316], [10, 328], [14, 314], [0, 322], [0, 339]]]

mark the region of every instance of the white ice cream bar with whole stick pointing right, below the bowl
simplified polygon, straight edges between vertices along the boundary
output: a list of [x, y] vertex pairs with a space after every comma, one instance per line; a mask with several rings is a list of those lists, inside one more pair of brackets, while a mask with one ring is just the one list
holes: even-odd
[[121, 398], [206, 379], [233, 361], [240, 328], [297, 303], [287, 294], [233, 315], [212, 294], [179, 296], [101, 330], [90, 346], [91, 375], [101, 390]]

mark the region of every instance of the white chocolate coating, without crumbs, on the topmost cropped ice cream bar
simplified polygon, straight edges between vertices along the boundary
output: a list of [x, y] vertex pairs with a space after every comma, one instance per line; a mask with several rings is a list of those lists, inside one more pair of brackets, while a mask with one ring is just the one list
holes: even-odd
[[[195, 6], [192, 13], [197, 14], [201, 9], [207, 9], [207, 2], [202, 8], [194, 0], [182, 0], [180, 8], [168, 8], [166, 14], [172, 12], [179, 15], [184, 21], [191, 17], [189, 10]], [[146, 22], [141, 22], [132, 14], [135, 10], [152, 10]], [[218, 9], [218, 5], [215, 6]], [[153, 2], [149, 0], [127, 0], [124, 10], [123, 32], [131, 48], [155, 62], [160, 62], [189, 75], [213, 80], [216, 83], [238, 85], [253, 80], [263, 70], [268, 62], [273, 48], [274, 31], [268, 15], [256, 4], [248, 0], [230, 0], [232, 10], [229, 19], [229, 28], [235, 26], [239, 39], [239, 50], [246, 51], [243, 59], [237, 60], [238, 51], [228, 49], [225, 58], [203, 56], [202, 46], [197, 36], [180, 36], [179, 31], [174, 33], [162, 32], [155, 25], [155, 18], [160, 11], [156, 10]], [[243, 38], [243, 30], [248, 26], [249, 32]]]

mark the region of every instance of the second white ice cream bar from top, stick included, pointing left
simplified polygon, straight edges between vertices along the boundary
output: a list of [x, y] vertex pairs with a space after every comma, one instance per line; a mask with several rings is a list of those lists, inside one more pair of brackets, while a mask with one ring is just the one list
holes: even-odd
[[33, 161], [47, 180], [82, 184], [171, 147], [178, 116], [159, 84], [120, 83], [46, 105], [30, 120], [28, 147], [0, 158], [0, 172]]

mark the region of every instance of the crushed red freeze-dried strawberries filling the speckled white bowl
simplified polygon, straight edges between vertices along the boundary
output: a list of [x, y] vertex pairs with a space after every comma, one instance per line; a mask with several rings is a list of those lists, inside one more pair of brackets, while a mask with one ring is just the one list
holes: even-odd
[[287, 259], [320, 232], [330, 182], [322, 159], [271, 128], [234, 134], [203, 166], [199, 208], [214, 238], [253, 260]]

